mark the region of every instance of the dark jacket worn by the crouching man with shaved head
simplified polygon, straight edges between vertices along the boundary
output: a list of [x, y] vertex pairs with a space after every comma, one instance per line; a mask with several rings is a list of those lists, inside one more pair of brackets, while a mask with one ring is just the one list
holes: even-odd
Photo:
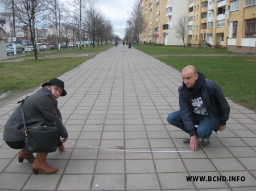
[[198, 74], [199, 78], [196, 80], [195, 88], [191, 90], [183, 83], [178, 90], [181, 120], [190, 136], [196, 135], [191, 105], [193, 94], [201, 95], [209, 117], [219, 125], [226, 125], [230, 112], [228, 101], [226, 101], [221, 88], [215, 82], [205, 79], [204, 74]]

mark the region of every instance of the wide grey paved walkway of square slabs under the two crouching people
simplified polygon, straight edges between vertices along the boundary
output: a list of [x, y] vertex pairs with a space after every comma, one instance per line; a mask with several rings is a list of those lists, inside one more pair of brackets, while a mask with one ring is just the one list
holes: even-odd
[[180, 73], [119, 45], [59, 78], [68, 93], [58, 100], [69, 140], [62, 155], [48, 155], [59, 172], [34, 175], [2, 140], [24, 95], [0, 108], [0, 190], [256, 190], [255, 112], [228, 100], [228, 128], [196, 152], [123, 152], [188, 150], [187, 134], [166, 120], [179, 109]]

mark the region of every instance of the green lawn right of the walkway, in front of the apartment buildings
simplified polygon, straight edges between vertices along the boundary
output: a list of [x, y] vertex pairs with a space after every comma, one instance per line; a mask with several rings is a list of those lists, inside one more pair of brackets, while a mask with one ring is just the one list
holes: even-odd
[[[207, 79], [219, 84], [229, 99], [256, 111], [256, 57], [232, 57], [233, 53], [221, 49], [179, 48], [161, 46], [133, 46], [145, 53], [152, 52], [160, 61], [181, 71], [194, 65]], [[151, 50], [148, 50], [151, 49]], [[176, 50], [175, 50], [176, 49]], [[179, 53], [179, 50], [181, 52]], [[189, 51], [191, 50], [191, 51]], [[230, 56], [157, 56], [159, 54], [230, 54]]]

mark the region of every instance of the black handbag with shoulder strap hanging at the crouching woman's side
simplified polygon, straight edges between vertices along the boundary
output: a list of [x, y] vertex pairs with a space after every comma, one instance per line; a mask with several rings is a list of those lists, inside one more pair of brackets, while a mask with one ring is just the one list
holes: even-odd
[[[25, 98], [26, 99], [26, 98]], [[25, 133], [25, 148], [28, 152], [54, 152], [57, 150], [59, 130], [56, 127], [38, 126], [26, 128], [23, 102], [22, 103], [22, 122]]]

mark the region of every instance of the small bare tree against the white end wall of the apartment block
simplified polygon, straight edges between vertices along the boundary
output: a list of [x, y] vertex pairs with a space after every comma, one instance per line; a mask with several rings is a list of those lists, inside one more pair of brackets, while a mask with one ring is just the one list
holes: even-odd
[[183, 40], [183, 45], [185, 46], [185, 37], [188, 33], [187, 15], [183, 14], [179, 16], [179, 18], [177, 18], [177, 23], [174, 24], [172, 29], [176, 32], [175, 36], [178, 39]]

